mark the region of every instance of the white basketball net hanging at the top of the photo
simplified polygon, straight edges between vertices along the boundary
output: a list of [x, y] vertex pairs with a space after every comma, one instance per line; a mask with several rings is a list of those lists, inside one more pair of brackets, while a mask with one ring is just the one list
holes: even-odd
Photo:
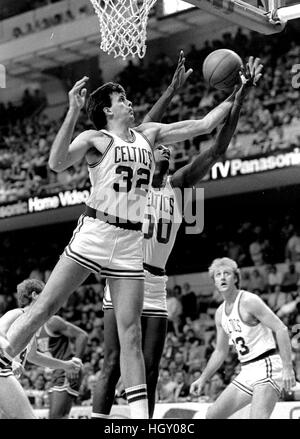
[[147, 22], [156, 0], [90, 0], [99, 19], [101, 45], [114, 57], [146, 53]]

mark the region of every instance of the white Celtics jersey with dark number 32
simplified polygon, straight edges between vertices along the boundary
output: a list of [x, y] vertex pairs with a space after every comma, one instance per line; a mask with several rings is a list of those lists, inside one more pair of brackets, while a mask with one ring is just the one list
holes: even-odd
[[129, 142], [102, 132], [111, 141], [100, 160], [88, 166], [92, 188], [87, 205], [125, 221], [142, 223], [154, 171], [151, 145], [132, 129]]

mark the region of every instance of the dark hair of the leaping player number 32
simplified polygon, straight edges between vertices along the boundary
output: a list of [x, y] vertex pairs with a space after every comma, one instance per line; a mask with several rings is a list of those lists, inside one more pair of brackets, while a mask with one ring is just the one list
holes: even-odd
[[97, 130], [101, 130], [107, 125], [103, 109], [111, 106], [111, 94], [114, 92], [125, 93], [125, 90], [116, 82], [107, 82], [94, 90], [87, 99], [86, 111], [90, 121]]

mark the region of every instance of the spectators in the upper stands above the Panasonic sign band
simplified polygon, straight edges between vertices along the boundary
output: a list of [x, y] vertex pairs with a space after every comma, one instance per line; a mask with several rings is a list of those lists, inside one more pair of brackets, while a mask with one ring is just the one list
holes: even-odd
[[[193, 67], [194, 73], [173, 99], [163, 121], [202, 117], [224, 98], [223, 92], [212, 90], [203, 82], [201, 66], [212, 50], [227, 47], [236, 50], [242, 57], [250, 54], [260, 56], [265, 74], [242, 109], [226, 158], [255, 157], [299, 147], [300, 88], [292, 87], [291, 75], [300, 55], [300, 46], [296, 42], [298, 37], [296, 30], [286, 31], [285, 38], [282, 38], [256, 33], [248, 35], [239, 29], [236, 35], [225, 33], [222, 40], [206, 41], [199, 49], [192, 46], [186, 53], [186, 65]], [[143, 60], [139, 65], [129, 61], [115, 78], [125, 86], [134, 102], [137, 123], [170, 83], [174, 69], [174, 61], [160, 55], [147, 66], [144, 66]], [[294, 86], [297, 86], [295, 81]], [[15, 108], [12, 104], [7, 107], [2, 105], [2, 112], [0, 125], [5, 126], [0, 127], [0, 203], [28, 198], [32, 194], [47, 195], [57, 192], [57, 189], [89, 186], [84, 161], [61, 174], [54, 174], [48, 169], [49, 150], [61, 120], [48, 120], [44, 114], [28, 119], [24, 107]], [[75, 135], [89, 128], [91, 124], [83, 114]], [[198, 136], [172, 145], [171, 172], [191, 162], [212, 139], [213, 136]]]

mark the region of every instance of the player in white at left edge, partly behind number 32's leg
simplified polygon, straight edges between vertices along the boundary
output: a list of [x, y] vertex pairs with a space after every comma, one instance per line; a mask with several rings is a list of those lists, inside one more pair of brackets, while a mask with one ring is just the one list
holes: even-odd
[[[43, 282], [36, 279], [27, 279], [17, 286], [17, 299], [20, 308], [13, 309], [4, 314], [0, 319], [0, 329], [7, 334], [9, 329], [20, 317], [26, 314], [37, 300], [43, 289]], [[82, 366], [81, 360], [69, 357], [66, 360], [49, 357], [37, 351], [36, 336], [33, 337], [28, 347], [14, 361], [7, 355], [0, 356], [0, 408], [5, 418], [35, 419], [36, 416], [30, 402], [15, 375], [20, 375], [26, 360], [38, 366], [51, 369], [60, 368], [70, 377], [76, 377]]]

